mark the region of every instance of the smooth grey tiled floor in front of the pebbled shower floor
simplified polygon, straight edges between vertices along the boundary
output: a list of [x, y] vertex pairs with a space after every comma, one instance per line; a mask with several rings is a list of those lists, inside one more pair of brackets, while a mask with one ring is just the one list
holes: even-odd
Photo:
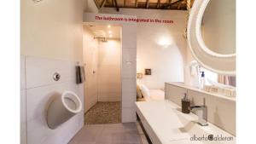
[[135, 123], [85, 125], [69, 144], [142, 144]]

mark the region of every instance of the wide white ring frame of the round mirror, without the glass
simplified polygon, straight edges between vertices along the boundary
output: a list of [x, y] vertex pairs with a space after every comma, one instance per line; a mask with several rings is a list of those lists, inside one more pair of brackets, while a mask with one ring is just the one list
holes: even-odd
[[201, 20], [210, 0], [195, 0], [189, 14], [188, 45], [201, 66], [212, 72], [224, 75], [236, 75], [236, 54], [222, 55], [207, 48], [201, 37]]

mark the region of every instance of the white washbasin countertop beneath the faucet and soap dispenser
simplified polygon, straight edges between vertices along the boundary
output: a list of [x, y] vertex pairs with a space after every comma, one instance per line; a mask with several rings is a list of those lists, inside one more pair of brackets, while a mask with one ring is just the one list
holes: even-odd
[[[144, 124], [149, 137], [158, 139], [155, 143], [161, 144], [189, 144], [189, 143], [236, 143], [236, 137], [230, 135], [217, 126], [208, 123], [208, 126], [197, 124], [197, 116], [193, 113], [184, 114], [180, 107], [172, 101], [139, 101], [136, 102], [137, 114]], [[147, 127], [147, 126], [146, 126]], [[152, 136], [153, 135], [153, 136]], [[192, 136], [222, 135], [232, 137], [233, 141], [191, 141]], [[153, 141], [154, 142], [154, 141]]]

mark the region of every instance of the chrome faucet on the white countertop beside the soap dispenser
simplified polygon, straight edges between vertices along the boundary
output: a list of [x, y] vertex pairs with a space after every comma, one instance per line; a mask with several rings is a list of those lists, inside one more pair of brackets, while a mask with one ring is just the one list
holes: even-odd
[[204, 104], [202, 106], [190, 106], [190, 110], [197, 113], [198, 116], [198, 124], [201, 126], [207, 126], [207, 106], [206, 99], [204, 98]]

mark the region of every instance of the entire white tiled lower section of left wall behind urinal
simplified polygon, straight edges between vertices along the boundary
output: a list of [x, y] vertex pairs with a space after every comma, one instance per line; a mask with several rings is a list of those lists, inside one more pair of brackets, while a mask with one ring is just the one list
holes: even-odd
[[[23, 59], [26, 62], [25, 64], [21, 62], [20, 68], [25, 70], [21, 70], [20, 73], [26, 72], [26, 78], [24, 78], [26, 87], [21, 90], [20, 94], [22, 131], [20, 141], [24, 141], [24, 144], [67, 143], [83, 127], [84, 112], [75, 115], [55, 130], [48, 128], [46, 112], [49, 99], [53, 95], [61, 95], [65, 90], [71, 90], [79, 95], [84, 105], [84, 84], [75, 84], [76, 62], [32, 56], [23, 56]], [[58, 82], [53, 80], [54, 72], [61, 74], [61, 79]]]

